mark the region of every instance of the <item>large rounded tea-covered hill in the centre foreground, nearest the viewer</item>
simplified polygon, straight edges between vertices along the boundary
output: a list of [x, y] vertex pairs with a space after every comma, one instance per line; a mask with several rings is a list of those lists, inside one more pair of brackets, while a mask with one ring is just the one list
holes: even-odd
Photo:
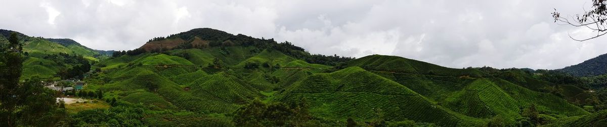
[[277, 96], [280, 101], [310, 100], [310, 112], [322, 118], [371, 120], [373, 109], [381, 109], [389, 120], [415, 120], [439, 125], [483, 125], [480, 118], [468, 117], [436, 105], [399, 83], [360, 67], [313, 74], [293, 84]]

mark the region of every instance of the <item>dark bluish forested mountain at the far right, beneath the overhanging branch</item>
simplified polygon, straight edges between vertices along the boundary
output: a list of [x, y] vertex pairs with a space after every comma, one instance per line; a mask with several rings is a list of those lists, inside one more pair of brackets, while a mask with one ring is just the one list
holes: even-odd
[[557, 69], [577, 77], [591, 77], [607, 74], [607, 54], [586, 60], [580, 64]]

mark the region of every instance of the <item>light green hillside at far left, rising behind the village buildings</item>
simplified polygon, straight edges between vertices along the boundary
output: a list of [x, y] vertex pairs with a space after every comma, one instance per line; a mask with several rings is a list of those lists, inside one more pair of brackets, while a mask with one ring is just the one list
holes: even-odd
[[[15, 31], [0, 29], [0, 41], [7, 41], [5, 38], [13, 32]], [[82, 66], [82, 63], [74, 60], [78, 58], [77, 56], [82, 56], [91, 63], [108, 58], [108, 55], [100, 53], [105, 51], [90, 49], [72, 39], [41, 38], [15, 33], [22, 41], [23, 52], [26, 55], [22, 78], [58, 77], [62, 71], [66, 72], [75, 66]]]

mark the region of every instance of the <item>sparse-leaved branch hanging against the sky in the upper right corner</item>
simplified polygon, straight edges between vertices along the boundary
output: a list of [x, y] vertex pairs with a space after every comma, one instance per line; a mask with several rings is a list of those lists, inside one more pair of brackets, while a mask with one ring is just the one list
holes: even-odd
[[603, 36], [607, 33], [607, 24], [605, 22], [607, 20], [606, 4], [607, 1], [605, 0], [592, 0], [591, 10], [585, 10], [585, 12], [581, 15], [577, 14], [575, 16], [561, 16], [561, 13], [557, 12], [557, 9], [554, 9], [554, 12], [551, 14], [554, 18], [554, 22], [559, 22], [560, 25], [585, 27], [597, 33], [596, 35], [583, 39], [575, 39], [569, 35], [569, 38], [574, 39], [575, 41], [587, 41], [589, 39]]

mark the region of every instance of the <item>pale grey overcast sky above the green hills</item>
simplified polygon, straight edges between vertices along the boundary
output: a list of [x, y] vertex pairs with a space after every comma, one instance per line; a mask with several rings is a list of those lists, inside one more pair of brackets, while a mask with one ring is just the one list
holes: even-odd
[[0, 29], [129, 50], [155, 36], [209, 27], [274, 38], [311, 53], [397, 55], [447, 67], [559, 69], [607, 53], [607, 36], [551, 17], [590, 0], [537, 1], [160, 1], [1, 0]]

